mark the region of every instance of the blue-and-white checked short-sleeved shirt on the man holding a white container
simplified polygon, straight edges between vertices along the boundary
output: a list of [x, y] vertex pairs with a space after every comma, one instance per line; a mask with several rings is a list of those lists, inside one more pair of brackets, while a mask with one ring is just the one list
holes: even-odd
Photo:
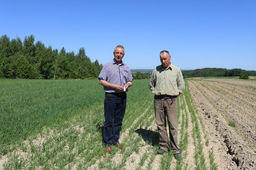
[[[124, 86], [128, 81], [133, 81], [133, 76], [130, 68], [123, 63], [118, 66], [117, 62], [113, 59], [111, 62], [106, 63], [101, 72], [99, 73], [99, 80], [105, 80], [111, 84], [119, 84]], [[112, 88], [104, 87], [105, 92], [115, 92], [117, 91]]]

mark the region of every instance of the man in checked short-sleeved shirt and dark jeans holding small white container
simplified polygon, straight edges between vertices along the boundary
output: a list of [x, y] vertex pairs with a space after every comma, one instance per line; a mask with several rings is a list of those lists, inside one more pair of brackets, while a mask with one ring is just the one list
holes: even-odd
[[98, 77], [105, 91], [103, 143], [108, 153], [112, 152], [111, 145], [123, 147], [119, 143], [120, 128], [126, 110], [126, 92], [133, 81], [129, 67], [122, 61], [123, 46], [117, 45], [113, 54], [114, 59], [103, 66]]

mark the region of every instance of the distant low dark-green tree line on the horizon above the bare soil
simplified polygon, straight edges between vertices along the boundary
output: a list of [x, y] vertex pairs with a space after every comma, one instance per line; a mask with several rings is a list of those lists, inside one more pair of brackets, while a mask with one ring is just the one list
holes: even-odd
[[204, 68], [195, 70], [184, 70], [181, 72], [183, 78], [239, 76], [240, 79], [248, 79], [248, 76], [256, 76], [256, 71], [246, 71], [243, 69]]

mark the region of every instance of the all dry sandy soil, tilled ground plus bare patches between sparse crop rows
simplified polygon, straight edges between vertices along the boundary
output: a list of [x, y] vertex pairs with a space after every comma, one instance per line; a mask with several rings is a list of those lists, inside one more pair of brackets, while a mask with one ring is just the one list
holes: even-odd
[[[256, 81], [198, 78], [189, 80], [188, 84], [194, 106], [197, 110], [196, 116], [202, 120], [204, 125], [204, 128], [201, 126], [202, 141], [205, 143], [203, 136], [207, 136], [209, 139], [209, 145], [203, 146], [208, 169], [210, 169], [209, 151], [213, 148], [218, 169], [256, 170]], [[186, 103], [184, 95], [181, 95], [179, 98], [180, 101]], [[152, 103], [151, 105], [149, 104], [148, 108], [152, 106]], [[147, 110], [134, 121], [134, 125], [142, 118]], [[152, 114], [148, 119], [154, 116], [153, 110], [151, 112]], [[195, 146], [192, 138], [193, 125], [187, 105], [185, 110], [181, 112], [187, 112], [189, 118], [188, 128], [186, 129], [188, 132], [188, 146], [182, 152], [182, 169], [185, 169], [187, 165], [187, 169], [193, 170], [196, 169]], [[230, 121], [235, 122], [235, 127], [229, 125]], [[181, 122], [181, 116], [179, 122]], [[139, 169], [148, 169], [149, 164], [153, 170], [162, 169], [162, 157], [166, 157], [166, 154], [155, 154], [153, 151], [154, 147], [147, 143], [155, 135], [156, 132], [154, 132], [154, 129], [156, 129], [155, 122], [147, 128], [138, 127], [133, 132], [134, 139], [139, 135], [143, 139], [140, 141], [140, 145], [138, 145], [139, 151], [137, 153], [133, 152], [127, 158], [122, 169], [133, 170], [138, 168], [140, 160], [145, 153], [148, 153], [149, 156]], [[179, 123], [180, 129], [181, 123]], [[125, 141], [129, 130], [126, 129], [121, 134], [120, 142]], [[178, 140], [180, 140], [180, 131], [178, 133]], [[129, 149], [129, 147], [125, 149]], [[89, 169], [99, 169], [100, 161], [107, 161], [108, 157], [110, 157], [108, 154], [103, 155]], [[114, 155], [111, 155], [111, 160], [118, 164], [123, 157], [123, 152], [119, 150]], [[6, 160], [7, 158], [5, 156], [0, 159], [0, 169]], [[176, 160], [172, 158], [170, 169], [176, 169], [175, 165]], [[74, 163], [72, 169], [77, 169], [77, 163]]]

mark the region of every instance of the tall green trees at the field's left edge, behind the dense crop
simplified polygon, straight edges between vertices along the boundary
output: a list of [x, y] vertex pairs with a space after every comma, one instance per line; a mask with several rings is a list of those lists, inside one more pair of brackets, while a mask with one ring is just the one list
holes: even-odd
[[33, 34], [24, 41], [17, 36], [10, 40], [0, 37], [0, 77], [27, 79], [92, 79], [97, 78], [102, 64], [91, 62], [85, 49], [77, 54], [45, 47], [41, 41], [34, 44]]

